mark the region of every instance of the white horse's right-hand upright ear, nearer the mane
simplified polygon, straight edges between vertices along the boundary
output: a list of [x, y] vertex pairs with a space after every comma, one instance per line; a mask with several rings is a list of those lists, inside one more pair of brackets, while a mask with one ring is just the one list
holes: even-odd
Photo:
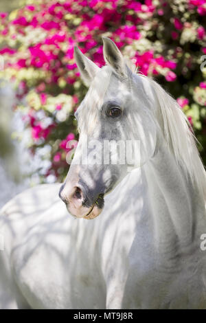
[[113, 67], [117, 74], [124, 76], [124, 58], [117, 45], [110, 38], [102, 37], [105, 62]]

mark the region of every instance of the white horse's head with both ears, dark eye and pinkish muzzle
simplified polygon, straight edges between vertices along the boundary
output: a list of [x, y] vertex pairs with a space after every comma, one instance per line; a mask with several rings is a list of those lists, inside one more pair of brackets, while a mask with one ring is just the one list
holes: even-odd
[[80, 138], [60, 198], [73, 216], [84, 219], [98, 216], [104, 194], [154, 155], [157, 137], [150, 82], [133, 73], [111, 39], [103, 43], [101, 69], [74, 49], [89, 91], [75, 113]]

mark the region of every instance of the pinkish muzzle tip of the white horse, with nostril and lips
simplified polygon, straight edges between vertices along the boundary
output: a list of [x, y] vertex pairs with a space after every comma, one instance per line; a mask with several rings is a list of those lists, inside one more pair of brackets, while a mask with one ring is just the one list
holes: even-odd
[[60, 199], [67, 205], [67, 210], [77, 218], [94, 219], [98, 216], [102, 210], [95, 203], [85, 206], [82, 189], [79, 186], [71, 187], [68, 184], [64, 184], [59, 192]]

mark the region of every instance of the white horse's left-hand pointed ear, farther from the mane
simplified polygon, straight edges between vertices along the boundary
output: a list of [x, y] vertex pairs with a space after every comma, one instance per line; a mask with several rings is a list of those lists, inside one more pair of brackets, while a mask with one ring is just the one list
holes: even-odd
[[95, 77], [95, 74], [100, 70], [100, 67], [95, 65], [87, 56], [82, 54], [80, 49], [77, 46], [74, 47], [74, 58], [76, 60], [76, 65], [78, 65], [78, 69], [82, 76], [82, 80], [85, 85], [89, 87], [91, 81]]

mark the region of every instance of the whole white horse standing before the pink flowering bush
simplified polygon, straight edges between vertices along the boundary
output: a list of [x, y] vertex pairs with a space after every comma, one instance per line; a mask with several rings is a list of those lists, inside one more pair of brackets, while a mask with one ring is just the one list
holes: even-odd
[[[102, 69], [75, 49], [90, 87], [65, 183], [1, 210], [0, 307], [206, 309], [206, 180], [194, 136], [176, 101], [103, 42]], [[140, 164], [78, 164], [86, 137], [139, 140]], [[98, 161], [100, 146], [89, 148]]]

